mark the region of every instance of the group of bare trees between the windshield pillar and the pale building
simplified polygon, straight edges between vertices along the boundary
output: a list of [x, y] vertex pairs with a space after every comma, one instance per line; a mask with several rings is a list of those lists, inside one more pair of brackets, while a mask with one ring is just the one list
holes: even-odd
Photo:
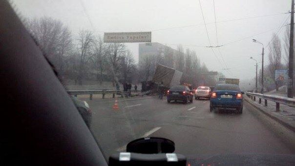
[[123, 43], [104, 43], [88, 30], [72, 34], [63, 22], [50, 17], [28, 19], [26, 26], [59, 75], [75, 84], [85, 79], [113, 85], [119, 80], [130, 82], [132, 72], [137, 71]]

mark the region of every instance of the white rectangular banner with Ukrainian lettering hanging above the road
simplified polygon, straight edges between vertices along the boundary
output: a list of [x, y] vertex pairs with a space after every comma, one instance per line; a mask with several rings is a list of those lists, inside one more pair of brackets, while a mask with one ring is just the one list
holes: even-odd
[[104, 42], [151, 42], [151, 32], [105, 33]]

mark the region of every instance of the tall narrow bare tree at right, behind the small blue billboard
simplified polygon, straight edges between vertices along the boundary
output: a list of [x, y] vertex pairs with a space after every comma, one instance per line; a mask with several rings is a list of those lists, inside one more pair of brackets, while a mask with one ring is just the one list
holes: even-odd
[[271, 78], [274, 80], [274, 72], [282, 66], [281, 59], [281, 41], [277, 35], [273, 34], [273, 40], [270, 43], [269, 65]]

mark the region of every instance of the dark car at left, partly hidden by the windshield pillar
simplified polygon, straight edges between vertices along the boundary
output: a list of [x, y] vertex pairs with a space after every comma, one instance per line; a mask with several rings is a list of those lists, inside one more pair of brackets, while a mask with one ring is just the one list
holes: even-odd
[[92, 111], [89, 108], [89, 105], [87, 104], [87, 102], [81, 101], [75, 96], [70, 95], [70, 97], [71, 97], [73, 103], [75, 104], [75, 106], [77, 107], [79, 113], [81, 114], [85, 124], [88, 126], [88, 128], [90, 128], [91, 119], [92, 119]]

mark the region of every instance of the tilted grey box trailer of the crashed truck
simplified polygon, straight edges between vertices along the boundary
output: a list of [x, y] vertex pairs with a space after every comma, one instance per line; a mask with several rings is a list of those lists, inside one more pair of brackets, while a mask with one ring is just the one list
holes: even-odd
[[178, 70], [158, 64], [152, 82], [157, 84], [163, 82], [166, 87], [179, 85], [182, 74]]

